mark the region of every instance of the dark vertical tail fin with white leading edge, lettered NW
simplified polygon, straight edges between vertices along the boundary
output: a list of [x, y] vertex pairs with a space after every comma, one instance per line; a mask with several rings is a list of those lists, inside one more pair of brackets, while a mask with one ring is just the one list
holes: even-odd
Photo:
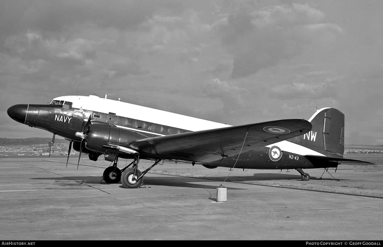
[[334, 108], [322, 108], [309, 119], [313, 128], [289, 141], [330, 157], [343, 157], [344, 114]]

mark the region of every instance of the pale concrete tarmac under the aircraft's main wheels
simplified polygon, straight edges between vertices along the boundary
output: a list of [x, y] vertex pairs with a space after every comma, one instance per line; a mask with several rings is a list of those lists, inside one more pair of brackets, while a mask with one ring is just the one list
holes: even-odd
[[225, 182], [217, 203], [218, 181], [147, 173], [146, 188], [125, 189], [103, 170], [0, 159], [1, 239], [382, 239], [381, 198]]

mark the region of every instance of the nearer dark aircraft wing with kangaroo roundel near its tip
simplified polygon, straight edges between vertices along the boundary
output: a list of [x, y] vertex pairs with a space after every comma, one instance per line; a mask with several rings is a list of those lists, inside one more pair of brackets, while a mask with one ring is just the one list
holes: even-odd
[[[187, 132], [170, 136], [136, 139], [129, 147], [158, 159], [210, 163], [256, 146], [266, 146], [307, 133], [311, 123], [304, 119], [284, 119], [227, 128]], [[247, 132], [247, 134], [246, 134]], [[246, 139], [245, 139], [246, 136]]]

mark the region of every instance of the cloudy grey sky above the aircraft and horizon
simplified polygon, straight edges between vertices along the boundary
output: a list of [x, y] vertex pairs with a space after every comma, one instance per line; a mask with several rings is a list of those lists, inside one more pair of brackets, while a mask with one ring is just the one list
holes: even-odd
[[90, 95], [231, 125], [346, 116], [383, 144], [383, 1], [0, 2], [0, 137], [15, 104]]

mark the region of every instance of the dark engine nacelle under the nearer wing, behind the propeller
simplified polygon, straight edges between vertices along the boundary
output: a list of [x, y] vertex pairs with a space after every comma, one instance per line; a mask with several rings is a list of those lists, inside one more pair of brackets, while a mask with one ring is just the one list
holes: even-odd
[[95, 152], [110, 154], [137, 154], [128, 147], [128, 142], [134, 139], [144, 139], [147, 136], [129, 129], [113, 125], [91, 123], [85, 137], [85, 147]]

